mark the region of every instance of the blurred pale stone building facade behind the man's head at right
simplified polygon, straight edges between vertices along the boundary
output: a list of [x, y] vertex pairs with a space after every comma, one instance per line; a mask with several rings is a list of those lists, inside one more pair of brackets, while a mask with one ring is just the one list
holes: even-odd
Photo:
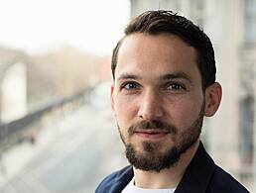
[[203, 140], [215, 161], [252, 190], [256, 1], [131, 0], [132, 17], [158, 9], [170, 9], [190, 18], [211, 39], [223, 98], [218, 113], [204, 123]]

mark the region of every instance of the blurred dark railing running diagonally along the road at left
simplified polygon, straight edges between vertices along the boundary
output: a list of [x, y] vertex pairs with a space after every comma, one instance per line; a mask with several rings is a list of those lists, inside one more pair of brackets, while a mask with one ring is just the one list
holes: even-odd
[[25, 117], [0, 125], [0, 155], [13, 145], [24, 141], [36, 142], [36, 137], [42, 129], [42, 120], [46, 117], [64, 117], [89, 100], [90, 88], [86, 88], [72, 96], [52, 101], [50, 104], [41, 107]]

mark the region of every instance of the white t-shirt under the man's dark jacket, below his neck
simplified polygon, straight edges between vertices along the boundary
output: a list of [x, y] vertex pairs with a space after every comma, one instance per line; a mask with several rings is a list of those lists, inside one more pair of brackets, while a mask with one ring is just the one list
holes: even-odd
[[144, 189], [134, 185], [134, 178], [122, 190], [122, 193], [174, 193], [175, 188], [170, 189]]

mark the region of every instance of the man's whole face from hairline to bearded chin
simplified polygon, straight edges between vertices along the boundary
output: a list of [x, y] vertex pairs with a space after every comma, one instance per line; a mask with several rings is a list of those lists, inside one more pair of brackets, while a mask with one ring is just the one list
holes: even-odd
[[204, 95], [196, 51], [174, 35], [124, 39], [111, 87], [112, 110], [129, 161], [160, 171], [198, 142]]

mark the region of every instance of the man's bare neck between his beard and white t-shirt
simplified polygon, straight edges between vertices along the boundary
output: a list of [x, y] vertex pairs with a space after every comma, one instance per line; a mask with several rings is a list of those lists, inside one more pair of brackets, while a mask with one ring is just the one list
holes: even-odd
[[174, 166], [163, 169], [160, 172], [144, 171], [134, 168], [136, 186], [150, 189], [176, 188], [192, 161], [192, 157], [194, 156], [198, 145], [199, 141], [183, 153]]

